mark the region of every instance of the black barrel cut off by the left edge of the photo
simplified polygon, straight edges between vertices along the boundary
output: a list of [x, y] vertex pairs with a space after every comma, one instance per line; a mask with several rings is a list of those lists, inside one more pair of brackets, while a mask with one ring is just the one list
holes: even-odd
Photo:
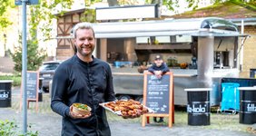
[[8, 80], [0, 81], [0, 107], [12, 106], [12, 82]]

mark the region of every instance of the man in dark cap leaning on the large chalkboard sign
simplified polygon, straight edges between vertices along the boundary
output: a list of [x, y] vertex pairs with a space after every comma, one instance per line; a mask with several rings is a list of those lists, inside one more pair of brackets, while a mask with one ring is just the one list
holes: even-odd
[[[153, 65], [149, 67], [148, 71], [153, 73], [158, 79], [162, 78], [162, 74], [170, 72], [169, 67], [162, 60], [162, 55], [157, 54], [154, 58]], [[153, 121], [162, 122], [163, 117], [160, 117], [159, 121], [157, 121], [156, 117], [153, 117]]]

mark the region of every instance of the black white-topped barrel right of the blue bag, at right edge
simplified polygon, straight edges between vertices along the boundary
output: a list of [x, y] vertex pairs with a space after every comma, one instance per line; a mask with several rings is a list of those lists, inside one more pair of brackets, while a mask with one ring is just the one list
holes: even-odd
[[256, 86], [240, 87], [239, 122], [243, 124], [256, 123]]

